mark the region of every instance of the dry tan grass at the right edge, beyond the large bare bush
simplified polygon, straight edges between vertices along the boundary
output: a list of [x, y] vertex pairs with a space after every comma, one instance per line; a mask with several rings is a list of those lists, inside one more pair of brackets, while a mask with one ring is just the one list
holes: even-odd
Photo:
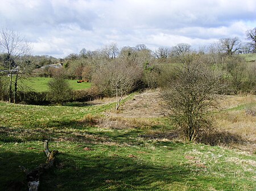
[[230, 146], [249, 152], [256, 151], [256, 96], [225, 96], [221, 101], [221, 112], [214, 115], [217, 130], [231, 133], [242, 142], [233, 141]]

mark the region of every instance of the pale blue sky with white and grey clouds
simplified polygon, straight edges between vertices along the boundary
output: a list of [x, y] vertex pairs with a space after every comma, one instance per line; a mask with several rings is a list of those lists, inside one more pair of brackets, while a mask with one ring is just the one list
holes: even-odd
[[0, 26], [25, 36], [34, 55], [62, 58], [82, 48], [209, 45], [245, 41], [255, 0], [0, 0]]

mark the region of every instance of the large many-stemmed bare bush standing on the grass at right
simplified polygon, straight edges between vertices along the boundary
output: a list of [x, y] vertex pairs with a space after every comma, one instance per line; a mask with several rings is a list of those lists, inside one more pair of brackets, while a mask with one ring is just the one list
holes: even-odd
[[211, 128], [210, 108], [217, 107], [218, 77], [207, 65], [195, 61], [176, 69], [163, 93], [170, 117], [187, 141]]

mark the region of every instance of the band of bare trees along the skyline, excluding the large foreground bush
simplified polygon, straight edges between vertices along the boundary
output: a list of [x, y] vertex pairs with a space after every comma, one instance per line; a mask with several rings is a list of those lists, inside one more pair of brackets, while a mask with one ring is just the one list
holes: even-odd
[[[162, 46], [155, 50], [148, 49], [144, 44], [134, 47], [124, 46], [119, 49], [117, 44], [112, 43], [94, 51], [82, 48], [79, 54], [72, 53], [60, 59], [51, 56], [31, 56], [30, 44], [18, 33], [2, 30], [1, 34], [0, 73], [9, 74], [10, 77], [9, 83], [0, 79], [1, 99], [5, 100], [7, 96], [10, 102], [15, 102], [17, 92], [23, 91], [21, 84], [18, 84], [20, 78], [26, 75], [55, 77], [60, 70], [63, 70], [61, 73], [66, 79], [89, 80], [98, 91], [101, 91], [101, 95], [117, 96], [117, 100], [121, 100], [123, 94], [138, 87], [165, 86], [167, 76], [172, 75], [168, 73], [170, 68], [174, 69], [174, 66], [192, 62], [196, 56], [202, 58], [200, 62], [207, 63], [212, 70], [222, 74], [221, 83], [225, 83], [227, 87], [222, 93], [253, 92], [255, 94], [255, 65], [253, 63], [245, 65], [245, 60], [237, 56], [241, 53], [255, 52], [255, 28], [246, 31], [249, 43], [241, 43], [238, 37], [225, 38], [197, 51], [186, 43], [172, 47]], [[9, 51], [6, 45], [11, 44], [8, 40], [10, 43], [20, 44], [11, 46], [16, 52]], [[52, 67], [52, 64], [55, 64], [55, 67]], [[120, 94], [117, 92], [124, 79], [119, 78], [115, 88], [112, 86], [118, 76], [132, 79], [129, 88], [127, 90], [122, 88]], [[8, 92], [6, 92], [7, 86], [9, 86]]]

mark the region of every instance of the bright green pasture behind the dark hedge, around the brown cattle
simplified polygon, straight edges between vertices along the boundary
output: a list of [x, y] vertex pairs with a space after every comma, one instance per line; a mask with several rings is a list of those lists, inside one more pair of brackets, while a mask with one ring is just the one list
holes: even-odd
[[[51, 78], [28, 78], [23, 80], [23, 83], [34, 91], [43, 92], [48, 90], [47, 84], [49, 80]], [[77, 80], [68, 80], [68, 82], [73, 90], [82, 90], [91, 87], [91, 83], [89, 82], [77, 83]]]

